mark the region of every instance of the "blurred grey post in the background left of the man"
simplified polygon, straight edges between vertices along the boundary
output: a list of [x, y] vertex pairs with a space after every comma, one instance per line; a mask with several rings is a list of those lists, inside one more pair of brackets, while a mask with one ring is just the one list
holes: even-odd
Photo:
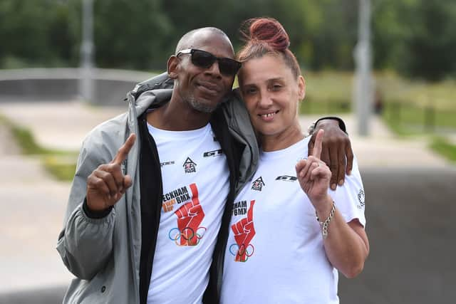
[[83, 39], [81, 43], [80, 94], [93, 102], [93, 0], [83, 0]]

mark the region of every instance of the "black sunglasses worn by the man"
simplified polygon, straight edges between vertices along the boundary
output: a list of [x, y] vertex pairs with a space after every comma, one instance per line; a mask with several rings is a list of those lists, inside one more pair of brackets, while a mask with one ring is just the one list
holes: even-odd
[[218, 58], [209, 52], [197, 50], [195, 48], [182, 50], [177, 53], [176, 56], [178, 57], [180, 54], [190, 54], [192, 56], [192, 63], [199, 68], [210, 68], [215, 61], [218, 61], [220, 73], [227, 76], [236, 75], [239, 68], [241, 68], [241, 63], [239, 61], [235, 61], [232, 58]]

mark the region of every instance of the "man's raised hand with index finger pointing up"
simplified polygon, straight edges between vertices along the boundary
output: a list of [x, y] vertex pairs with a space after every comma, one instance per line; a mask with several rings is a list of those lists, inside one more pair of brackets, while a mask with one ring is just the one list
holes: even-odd
[[123, 175], [121, 166], [135, 144], [131, 134], [109, 164], [100, 164], [87, 178], [87, 206], [91, 211], [103, 211], [113, 206], [131, 186], [129, 175]]

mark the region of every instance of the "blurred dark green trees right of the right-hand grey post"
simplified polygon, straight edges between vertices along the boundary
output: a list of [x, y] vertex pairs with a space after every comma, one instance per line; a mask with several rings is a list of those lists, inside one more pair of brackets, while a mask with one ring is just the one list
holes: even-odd
[[375, 68], [440, 80], [456, 70], [456, 2], [378, 0], [373, 16]]

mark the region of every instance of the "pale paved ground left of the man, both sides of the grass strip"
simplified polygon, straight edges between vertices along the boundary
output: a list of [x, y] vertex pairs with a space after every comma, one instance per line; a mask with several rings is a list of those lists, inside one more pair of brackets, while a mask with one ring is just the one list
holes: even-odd
[[[33, 132], [44, 147], [78, 150], [87, 132], [123, 109], [80, 103], [0, 104], [0, 113]], [[39, 159], [19, 154], [0, 126], [0, 293], [66, 285], [72, 278], [55, 246], [70, 184]]]

